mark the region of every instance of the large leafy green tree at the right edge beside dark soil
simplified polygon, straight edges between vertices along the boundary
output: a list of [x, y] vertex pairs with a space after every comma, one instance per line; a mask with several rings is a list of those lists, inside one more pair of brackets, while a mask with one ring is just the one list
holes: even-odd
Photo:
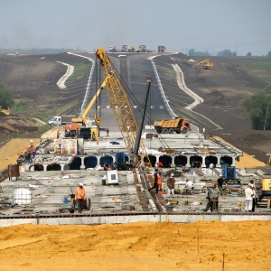
[[271, 130], [271, 85], [242, 102], [255, 130]]

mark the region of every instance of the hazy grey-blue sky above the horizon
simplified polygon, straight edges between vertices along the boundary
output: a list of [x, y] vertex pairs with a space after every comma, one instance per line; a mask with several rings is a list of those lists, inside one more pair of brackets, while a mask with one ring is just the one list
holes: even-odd
[[0, 48], [271, 51], [271, 0], [0, 0]]

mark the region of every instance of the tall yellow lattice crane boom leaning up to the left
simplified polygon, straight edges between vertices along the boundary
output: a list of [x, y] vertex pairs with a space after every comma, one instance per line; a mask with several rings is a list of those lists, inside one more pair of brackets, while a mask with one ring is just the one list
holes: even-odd
[[[138, 156], [140, 156], [140, 159], [135, 157], [135, 165], [139, 166], [141, 164], [152, 167], [142, 138], [136, 138], [138, 127], [134, 113], [126, 96], [126, 91], [123, 89], [120, 80], [117, 78], [117, 74], [113, 69], [106, 51], [100, 48], [96, 51], [96, 55], [100, 61], [103, 77], [107, 85], [109, 104], [113, 109], [114, 116], [117, 120], [117, 126], [126, 145], [126, 150], [128, 154], [131, 154], [131, 150], [134, 150], [135, 145], [139, 145]], [[136, 142], [136, 140], [138, 140], [138, 142]]]

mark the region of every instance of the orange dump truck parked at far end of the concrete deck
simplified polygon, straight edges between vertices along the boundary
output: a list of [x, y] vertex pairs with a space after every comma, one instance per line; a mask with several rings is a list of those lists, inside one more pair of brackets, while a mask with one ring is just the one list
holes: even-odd
[[154, 128], [158, 134], [186, 134], [191, 130], [190, 121], [186, 118], [175, 117], [169, 120], [155, 120]]

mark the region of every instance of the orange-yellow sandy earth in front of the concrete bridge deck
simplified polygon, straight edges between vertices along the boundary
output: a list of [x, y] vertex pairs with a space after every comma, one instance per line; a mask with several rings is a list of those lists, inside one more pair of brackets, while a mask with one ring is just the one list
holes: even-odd
[[270, 270], [270, 227], [271, 221], [26, 224], [0, 229], [0, 269]]

